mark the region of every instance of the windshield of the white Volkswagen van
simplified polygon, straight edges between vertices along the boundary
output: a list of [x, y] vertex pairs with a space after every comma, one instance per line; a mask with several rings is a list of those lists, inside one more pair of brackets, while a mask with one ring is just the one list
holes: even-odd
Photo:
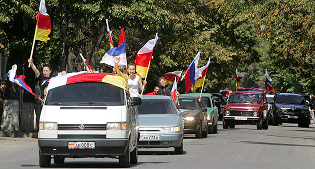
[[74, 83], [48, 91], [45, 105], [125, 105], [124, 90], [101, 82]]

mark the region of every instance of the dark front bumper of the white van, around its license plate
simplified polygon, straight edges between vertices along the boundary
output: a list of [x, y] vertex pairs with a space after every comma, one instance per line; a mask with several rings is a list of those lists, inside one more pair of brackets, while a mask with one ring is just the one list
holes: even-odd
[[[68, 142], [95, 142], [95, 149], [69, 149]], [[41, 155], [65, 157], [105, 157], [125, 155], [129, 139], [38, 139]]]

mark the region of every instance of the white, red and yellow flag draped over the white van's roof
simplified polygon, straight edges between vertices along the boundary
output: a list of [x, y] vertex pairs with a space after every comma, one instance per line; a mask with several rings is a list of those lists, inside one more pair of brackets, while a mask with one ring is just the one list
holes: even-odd
[[116, 73], [89, 73], [80, 71], [67, 73], [66, 75], [58, 75], [49, 80], [47, 91], [60, 86], [69, 85], [77, 82], [103, 82], [116, 87], [127, 89], [128, 83], [121, 75]]

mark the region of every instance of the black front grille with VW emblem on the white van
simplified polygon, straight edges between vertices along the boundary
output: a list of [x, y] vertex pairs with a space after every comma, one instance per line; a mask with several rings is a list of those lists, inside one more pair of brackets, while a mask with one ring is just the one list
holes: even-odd
[[106, 124], [58, 124], [58, 130], [106, 130]]

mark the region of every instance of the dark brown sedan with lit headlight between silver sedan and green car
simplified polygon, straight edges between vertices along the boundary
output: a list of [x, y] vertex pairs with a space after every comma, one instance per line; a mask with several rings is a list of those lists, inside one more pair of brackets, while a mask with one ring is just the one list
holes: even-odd
[[180, 109], [188, 110], [188, 114], [182, 115], [185, 134], [195, 134], [196, 138], [204, 138], [208, 135], [207, 109], [195, 97], [179, 97]]

